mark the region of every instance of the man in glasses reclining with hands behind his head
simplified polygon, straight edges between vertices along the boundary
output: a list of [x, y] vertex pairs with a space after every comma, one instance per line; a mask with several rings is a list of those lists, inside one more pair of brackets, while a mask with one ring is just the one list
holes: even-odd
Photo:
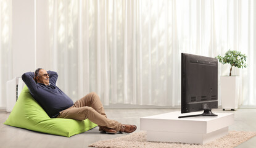
[[57, 86], [56, 72], [42, 68], [22, 75], [22, 80], [28, 86], [30, 94], [43, 107], [51, 118], [71, 118], [85, 120], [88, 118], [99, 126], [99, 131], [105, 133], [125, 132], [132, 133], [135, 125], [123, 125], [118, 121], [110, 120], [105, 115], [103, 105], [96, 93], [91, 92], [73, 104], [73, 101]]

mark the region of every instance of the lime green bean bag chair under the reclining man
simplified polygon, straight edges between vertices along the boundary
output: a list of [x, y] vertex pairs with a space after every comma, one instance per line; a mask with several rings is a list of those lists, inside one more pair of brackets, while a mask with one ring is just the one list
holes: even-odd
[[22, 89], [14, 109], [4, 124], [66, 137], [83, 133], [97, 126], [88, 119], [78, 121], [66, 118], [50, 118], [31, 96], [27, 86]]

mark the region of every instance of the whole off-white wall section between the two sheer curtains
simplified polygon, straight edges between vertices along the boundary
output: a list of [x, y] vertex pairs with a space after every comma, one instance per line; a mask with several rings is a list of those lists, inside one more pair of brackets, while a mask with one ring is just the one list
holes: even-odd
[[48, 1], [12, 0], [12, 78], [51, 67], [47, 12]]

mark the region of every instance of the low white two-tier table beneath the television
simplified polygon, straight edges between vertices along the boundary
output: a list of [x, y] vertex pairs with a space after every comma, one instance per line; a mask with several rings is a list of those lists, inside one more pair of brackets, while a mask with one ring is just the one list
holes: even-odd
[[180, 115], [180, 112], [170, 112], [142, 117], [140, 126], [147, 131], [147, 141], [205, 144], [228, 134], [228, 126], [234, 122], [234, 113], [178, 118]]

